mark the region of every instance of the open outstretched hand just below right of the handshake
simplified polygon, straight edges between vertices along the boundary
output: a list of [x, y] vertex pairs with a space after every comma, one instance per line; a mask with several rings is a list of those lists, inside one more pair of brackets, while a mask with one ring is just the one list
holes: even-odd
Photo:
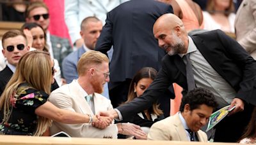
[[132, 135], [136, 139], [147, 139], [147, 134], [141, 130], [140, 126], [134, 125], [133, 123], [118, 123], [117, 124], [119, 134]]

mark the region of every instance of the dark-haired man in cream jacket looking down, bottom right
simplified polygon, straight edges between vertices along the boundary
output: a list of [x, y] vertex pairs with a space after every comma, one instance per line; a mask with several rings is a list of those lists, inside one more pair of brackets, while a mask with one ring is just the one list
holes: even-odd
[[200, 128], [207, 123], [216, 106], [209, 90], [195, 88], [182, 98], [179, 113], [152, 125], [148, 139], [207, 142], [207, 135]]

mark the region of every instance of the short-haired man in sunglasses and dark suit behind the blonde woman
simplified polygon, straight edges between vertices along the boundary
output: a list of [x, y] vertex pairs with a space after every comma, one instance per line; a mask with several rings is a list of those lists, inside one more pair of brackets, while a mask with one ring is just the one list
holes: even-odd
[[11, 30], [4, 33], [2, 38], [3, 55], [6, 57], [7, 65], [0, 72], [0, 95], [3, 93], [4, 88], [10, 78], [12, 77], [15, 68], [25, 53], [29, 51], [27, 46], [27, 39], [23, 32]]

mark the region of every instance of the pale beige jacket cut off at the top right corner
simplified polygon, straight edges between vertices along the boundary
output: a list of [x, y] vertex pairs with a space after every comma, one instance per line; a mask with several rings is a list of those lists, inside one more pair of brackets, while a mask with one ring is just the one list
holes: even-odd
[[243, 0], [236, 13], [235, 28], [238, 43], [256, 59], [255, 0]]

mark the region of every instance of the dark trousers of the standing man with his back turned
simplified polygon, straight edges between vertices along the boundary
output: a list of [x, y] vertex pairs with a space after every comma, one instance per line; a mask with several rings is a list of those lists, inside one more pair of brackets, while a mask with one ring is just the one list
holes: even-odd
[[[131, 79], [126, 79], [125, 81], [118, 83], [118, 85], [115, 83], [115, 87], [109, 89], [109, 99], [111, 100], [111, 104], [114, 108], [120, 106], [122, 102], [127, 100], [130, 83]], [[158, 100], [160, 104], [159, 107], [163, 110], [165, 118], [170, 116], [170, 97], [171, 94], [169, 92], [164, 92], [163, 96], [159, 96]]]

